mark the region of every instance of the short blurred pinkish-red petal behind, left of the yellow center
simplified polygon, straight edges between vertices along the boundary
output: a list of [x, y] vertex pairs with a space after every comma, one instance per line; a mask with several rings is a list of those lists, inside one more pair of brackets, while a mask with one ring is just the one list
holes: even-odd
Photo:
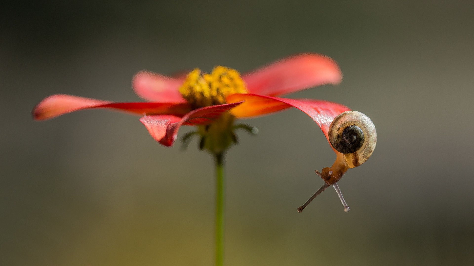
[[133, 89], [138, 96], [147, 101], [186, 103], [178, 90], [183, 82], [182, 77], [172, 78], [148, 71], [140, 71], [133, 78]]

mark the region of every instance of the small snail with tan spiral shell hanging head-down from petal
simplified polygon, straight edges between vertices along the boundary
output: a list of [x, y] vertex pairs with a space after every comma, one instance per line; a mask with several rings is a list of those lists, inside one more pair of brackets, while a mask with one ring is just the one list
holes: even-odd
[[346, 173], [347, 169], [355, 168], [363, 164], [374, 152], [377, 142], [375, 125], [367, 115], [357, 111], [346, 111], [337, 115], [329, 126], [329, 143], [337, 154], [336, 161], [331, 167], [322, 169], [319, 173], [324, 180], [324, 185], [310, 197], [310, 199], [298, 208], [302, 212], [310, 202], [328, 186], [333, 186], [344, 205], [344, 211], [349, 211], [341, 190], [337, 186], [337, 181]]

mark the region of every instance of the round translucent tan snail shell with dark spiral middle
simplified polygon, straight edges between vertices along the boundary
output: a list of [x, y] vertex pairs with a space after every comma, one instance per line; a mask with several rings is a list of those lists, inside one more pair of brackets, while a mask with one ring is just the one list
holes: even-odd
[[329, 142], [343, 153], [349, 168], [363, 164], [375, 149], [377, 132], [367, 115], [346, 111], [337, 115], [329, 126]]

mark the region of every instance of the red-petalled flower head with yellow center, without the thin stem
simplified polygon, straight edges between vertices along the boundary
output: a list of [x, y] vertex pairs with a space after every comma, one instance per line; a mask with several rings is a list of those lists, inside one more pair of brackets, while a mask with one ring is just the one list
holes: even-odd
[[[201, 148], [220, 153], [232, 142], [233, 123], [296, 107], [308, 114], [328, 138], [334, 117], [350, 110], [346, 106], [314, 99], [277, 98], [342, 79], [337, 63], [313, 53], [298, 54], [273, 62], [240, 77], [239, 72], [222, 66], [210, 74], [199, 69], [187, 76], [170, 77], [148, 71], [138, 72], [133, 89], [150, 102], [112, 103], [109, 101], [56, 94], [43, 99], [33, 110], [35, 120], [46, 120], [69, 112], [106, 108], [142, 115], [150, 135], [172, 146], [181, 125], [197, 125]], [[334, 150], [334, 149], [333, 149]], [[337, 154], [336, 150], [334, 150]]]

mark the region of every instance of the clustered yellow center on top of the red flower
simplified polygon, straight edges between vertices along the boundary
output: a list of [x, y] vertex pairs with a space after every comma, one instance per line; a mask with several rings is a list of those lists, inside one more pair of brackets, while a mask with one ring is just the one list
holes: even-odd
[[225, 104], [228, 95], [247, 93], [247, 89], [238, 71], [217, 66], [210, 74], [201, 75], [199, 68], [191, 71], [179, 92], [193, 108], [199, 108]]

